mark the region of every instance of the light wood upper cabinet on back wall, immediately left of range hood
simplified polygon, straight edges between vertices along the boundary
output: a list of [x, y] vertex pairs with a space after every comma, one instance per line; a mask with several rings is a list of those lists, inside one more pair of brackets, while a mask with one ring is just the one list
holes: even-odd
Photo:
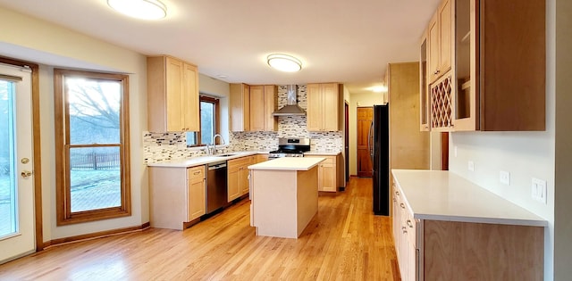
[[250, 131], [277, 130], [277, 118], [272, 116], [277, 106], [278, 90], [276, 86], [250, 86]]

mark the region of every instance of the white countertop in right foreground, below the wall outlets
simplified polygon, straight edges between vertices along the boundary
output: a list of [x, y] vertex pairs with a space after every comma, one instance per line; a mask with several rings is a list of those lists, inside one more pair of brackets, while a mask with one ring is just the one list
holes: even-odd
[[414, 219], [547, 227], [548, 221], [449, 171], [392, 169]]

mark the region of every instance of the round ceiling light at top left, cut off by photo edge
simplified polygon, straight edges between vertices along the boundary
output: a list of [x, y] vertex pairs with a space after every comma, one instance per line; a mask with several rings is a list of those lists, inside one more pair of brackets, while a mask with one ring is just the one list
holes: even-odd
[[115, 11], [142, 20], [160, 20], [167, 15], [167, 7], [159, 0], [107, 0]]

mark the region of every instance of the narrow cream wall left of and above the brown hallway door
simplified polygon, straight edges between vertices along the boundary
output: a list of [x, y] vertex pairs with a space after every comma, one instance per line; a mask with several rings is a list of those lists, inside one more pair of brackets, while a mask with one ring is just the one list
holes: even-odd
[[357, 107], [383, 104], [387, 93], [351, 94], [349, 100], [349, 175], [357, 176]]

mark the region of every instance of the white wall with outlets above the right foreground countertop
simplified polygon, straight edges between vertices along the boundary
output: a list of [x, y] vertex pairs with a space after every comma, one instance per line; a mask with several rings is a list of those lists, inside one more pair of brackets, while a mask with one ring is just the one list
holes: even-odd
[[[544, 240], [545, 280], [553, 278], [554, 255], [555, 1], [547, 0], [546, 131], [450, 134], [451, 171], [549, 221]], [[467, 161], [475, 162], [474, 172], [467, 169]], [[501, 170], [510, 172], [510, 186], [500, 183]], [[532, 199], [532, 178], [546, 180], [546, 204]]]

